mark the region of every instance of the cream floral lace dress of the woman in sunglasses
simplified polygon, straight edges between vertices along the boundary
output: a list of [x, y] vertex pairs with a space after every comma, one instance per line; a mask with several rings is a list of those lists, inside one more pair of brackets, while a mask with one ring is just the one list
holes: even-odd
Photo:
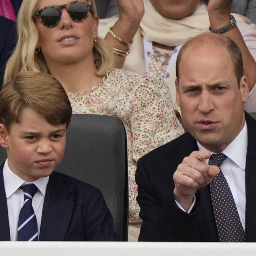
[[137, 161], [184, 132], [166, 83], [151, 72], [138, 75], [114, 69], [98, 90], [76, 95], [69, 94], [73, 113], [116, 116], [123, 121], [128, 143], [129, 222], [141, 222], [136, 202]]

